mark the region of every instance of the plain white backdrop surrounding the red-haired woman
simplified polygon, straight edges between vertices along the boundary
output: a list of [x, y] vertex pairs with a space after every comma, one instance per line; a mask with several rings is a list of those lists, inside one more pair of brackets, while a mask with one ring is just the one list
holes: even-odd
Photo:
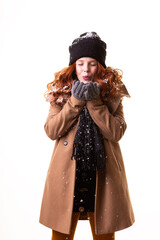
[[[159, 10], [158, 0], [1, 0], [0, 239], [51, 238], [38, 222], [54, 146], [43, 129], [43, 94], [86, 31], [107, 43], [106, 64], [123, 70], [131, 95], [120, 144], [136, 222], [116, 239], [160, 239]], [[88, 221], [78, 222], [80, 239], [92, 239]]]

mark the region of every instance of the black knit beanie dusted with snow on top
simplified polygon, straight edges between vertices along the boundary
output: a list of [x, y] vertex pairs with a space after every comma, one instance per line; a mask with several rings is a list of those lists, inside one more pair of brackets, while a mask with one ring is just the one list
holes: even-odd
[[103, 42], [96, 32], [86, 32], [76, 38], [69, 47], [70, 62], [72, 65], [81, 57], [96, 59], [104, 68], [106, 58], [106, 43]]

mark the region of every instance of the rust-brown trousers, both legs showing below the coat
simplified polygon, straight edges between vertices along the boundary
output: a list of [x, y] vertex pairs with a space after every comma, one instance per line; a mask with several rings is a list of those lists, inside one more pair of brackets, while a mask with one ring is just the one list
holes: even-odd
[[[93, 240], [115, 240], [115, 233], [96, 235], [95, 234], [94, 213], [88, 212], [87, 215], [88, 215], [88, 219], [89, 219], [89, 222], [91, 225]], [[52, 240], [73, 240], [79, 217], [80, 217], [79, 212], [73, 212], [72, 223], [71, 223], [71, 233], [64, 234], [64, 233], [52, 230]]]

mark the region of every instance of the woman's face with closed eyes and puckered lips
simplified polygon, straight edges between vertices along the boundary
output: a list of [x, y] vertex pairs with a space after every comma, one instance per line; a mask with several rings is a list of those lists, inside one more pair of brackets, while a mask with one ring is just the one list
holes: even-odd
[[90, 57], [79, 58], [76, 61], [76, 75], [80, 82], [88, 83], [94, 80], [97, 72], [97, 60]]

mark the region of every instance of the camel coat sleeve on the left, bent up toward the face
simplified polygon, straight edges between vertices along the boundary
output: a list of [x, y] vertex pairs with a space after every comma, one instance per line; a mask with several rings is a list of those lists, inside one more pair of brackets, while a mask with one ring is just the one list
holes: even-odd
[[71, 96], [63, 108], [57, 104], [51, 104], [49, 114], [44, 125], [45, 132], [49, 138], [55, 140], [62, 137], [77, 120], [84, 101]]

